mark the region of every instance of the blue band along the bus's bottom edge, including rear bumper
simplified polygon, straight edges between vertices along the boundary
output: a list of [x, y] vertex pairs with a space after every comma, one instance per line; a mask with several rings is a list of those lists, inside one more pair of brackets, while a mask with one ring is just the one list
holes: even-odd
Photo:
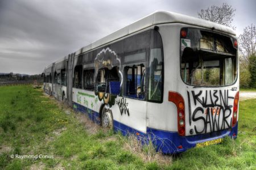
[[[86, 113], [90, 120], [96, 122], [96, 124], [98, 125], [101, 124], [100, 113], [92, 111], [91, 109], [86, 108], [75, 102], [73, 102], [73, 109], [75, 109], [75, 111]], [[188, 148], [195, 147], [196, 143], [223, 138], [228, 135], [232, 138], [236, 138], [238, 132], [238, 122], [236, 126], [234, 126], [232, 129], [225, 129], [212, 133], [198, 134], [187, 137], [181, 137], [176, 131], [165, 131], [148, 127], [147, 133], [145, 134], [142, 131], [131, 128], [130, 126], [127, 126], [115, 120], [113, 120], [113, 125], [115, 132], [121, 131], [123, 135], [136, 134], [138, 139], [142, 140], [142, 143], [148, 143], [149, 139], [151, 139], [152, 143], [156, 145], [156, 150], [161, 151], [163, 154], [174, 154], [183, 152]], [[182, 148], [178, 148], [178, 146], [182, 146]]]

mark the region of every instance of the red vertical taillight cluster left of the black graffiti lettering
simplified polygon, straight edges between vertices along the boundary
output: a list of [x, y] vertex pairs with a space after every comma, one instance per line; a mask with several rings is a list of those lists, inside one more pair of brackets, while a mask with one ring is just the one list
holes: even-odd
[[169, 91], [168, 100], [177, 107], [177, 131], [179, 135], [185, 135], [185, 106], [183, 97], [174, 91]]

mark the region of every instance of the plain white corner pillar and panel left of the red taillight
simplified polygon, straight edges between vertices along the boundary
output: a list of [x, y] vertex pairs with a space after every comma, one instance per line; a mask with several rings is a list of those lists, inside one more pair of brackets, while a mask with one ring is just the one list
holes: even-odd
[[175, 24], [159, 25], [162, 36], [164, 56], [164, 92], [163, 103], [147, 105], [147, 126], [152, 129], [177, 131], [177, 109], [174, 103], [168, 101], [168, 91], [176, 91], [179, 72], [179, 31]]

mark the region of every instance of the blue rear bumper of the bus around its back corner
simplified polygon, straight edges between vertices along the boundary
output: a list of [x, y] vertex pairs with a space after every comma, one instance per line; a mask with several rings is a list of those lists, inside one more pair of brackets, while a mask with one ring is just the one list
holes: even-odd
[[224, 138], [226, 136], [237, 138], [237, 128], [238, 122], [236, 126], [231, 129], [187, 137], [181, 137], [177, 132], [147, 128], [147, 135], [151, 138], [151, 141], [156, 145], [158, 150], [162, 151], [164, 154], [175, 154], [195, 147], [196, 143]]

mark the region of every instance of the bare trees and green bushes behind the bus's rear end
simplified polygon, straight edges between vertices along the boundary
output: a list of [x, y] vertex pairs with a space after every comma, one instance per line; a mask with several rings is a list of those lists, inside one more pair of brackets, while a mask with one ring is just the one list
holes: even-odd
[[[197, 13], [199, 18], [209, 20], [218, 24], [226, 25], [236, 29], [232, 25], [236, 9], [227, 3], [221, 6], [210, 6]], [[238, 36], [239, 58], [240, 58], [240, 87], [256, 88], [256, 29], [251, 23], [243, 29]]]

